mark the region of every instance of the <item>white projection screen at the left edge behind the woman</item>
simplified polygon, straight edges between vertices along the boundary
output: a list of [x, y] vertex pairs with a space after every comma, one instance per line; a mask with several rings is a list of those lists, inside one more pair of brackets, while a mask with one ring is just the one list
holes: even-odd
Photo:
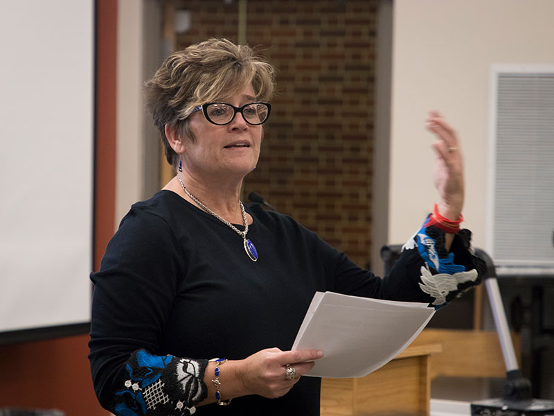
[[87, 324], [94, 1], [0, 1], [0, 341]]

